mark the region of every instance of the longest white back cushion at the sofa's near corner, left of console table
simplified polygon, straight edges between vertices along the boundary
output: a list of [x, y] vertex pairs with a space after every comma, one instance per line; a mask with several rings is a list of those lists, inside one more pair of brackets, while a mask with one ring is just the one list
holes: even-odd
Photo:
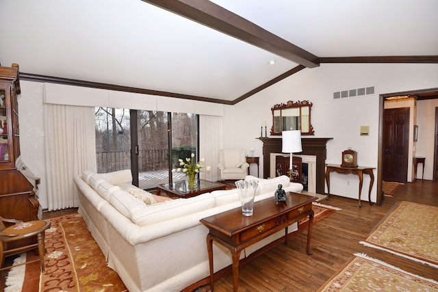
[[132, 212], [131, 220], [138, 226], [178, 218], [214, 207], [215, 199], [210, 193], [188, 199], [177, 199], [166, 204], [155, 204]]

